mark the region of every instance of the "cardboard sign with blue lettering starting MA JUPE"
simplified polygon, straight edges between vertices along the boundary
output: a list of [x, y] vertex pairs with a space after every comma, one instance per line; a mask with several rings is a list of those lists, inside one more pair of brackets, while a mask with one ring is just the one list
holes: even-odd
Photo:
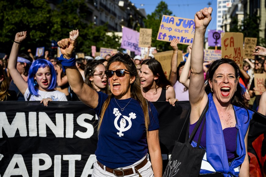
[[195, 23], [193, 19], [163, 15], [157, 40], [171, 42], [177, 38], [180, 44], [190, 45], [193, 42], [194, 33]]

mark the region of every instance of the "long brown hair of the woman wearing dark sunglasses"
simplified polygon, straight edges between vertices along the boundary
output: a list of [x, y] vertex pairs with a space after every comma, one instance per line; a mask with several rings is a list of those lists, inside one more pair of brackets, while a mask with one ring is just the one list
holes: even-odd
[[[146, 130], [148, 131], [149, 124], [150, 124], [148, 110], [150, 108], [149, 108], [149, 104], [147, 104], [147, 100], [143, 97], [143, 95], [141, 93], [140, 76], [138, 74], [138, 71], [137, 71], [137, 68], [136, 68], [134, 62], [131, 60], [131, 58], [128, 54], [117, 53], [117, 54], [113, 55], [108, 60], [108, 63], [106, 65], [106, 70], [109, 69], [110, 64], [112, 64], [113, 62], [123, 63], [126, 66], [126, 69], [130, 72], [130, 76], [131, 77], [135, 76], [135, 81], [130, 86], [130, 96], [133, 99], [136, 99], [139, 102], [141, 108], [143, 109], [145, 127], [146, 127]], [[107, 82], [108, 82], [108, 79], [107, 79]], [[109, 106], [110, 100], [111, 100], [111, 98], [114, 97], [114, 95], [112, 94], [112, 92], [110, 90], [110, 86], [108, 83], [106, 84], [106, 87], [107, 87], [106, 93], [108, 94], [108, 98], [105, 100], [103, 107], [102, 107], [102, 110], [101, 110], [101, 119], [99, 121], [98, 130], [101, 127], [102, 119], [104, 117], [104, 114], [105, 114], [107, 107]]]

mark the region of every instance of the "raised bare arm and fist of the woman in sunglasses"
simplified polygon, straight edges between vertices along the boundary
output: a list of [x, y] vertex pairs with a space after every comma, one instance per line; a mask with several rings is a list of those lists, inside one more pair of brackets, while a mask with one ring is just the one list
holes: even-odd
[[[63, 57], [67, 60], [73, 60], [73, 57], [75, 57], [73, 55], [75, 41], [67, 38], [60, 40], [57, 44], [60, 47]], [[67, 63], [67, 60], [61, 62], [63, 66], [65, 65], [65, 62]], [[69, 85], [73, 88], [73, 91], [79, 99], [91, 108], [96, 108], [98, 105], [98, 93], [84, 83], [80, 71], [76, 67], [75, 61], [73, 61], [72, 66], [66, 66], [66, 76], [68, 78]]]

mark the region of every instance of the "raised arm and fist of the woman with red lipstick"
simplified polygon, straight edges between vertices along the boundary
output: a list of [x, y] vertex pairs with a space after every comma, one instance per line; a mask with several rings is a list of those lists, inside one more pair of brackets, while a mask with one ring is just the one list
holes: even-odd
[[195, 123], [207, 104], [204, 90], [203, 48], [206, 28], [211, 21], [212, 8], [204, 8], [195, 14], [195, 34], [191, 50], [191, 74], [189, 83], [189, 100], [191, 105], [190, 123]]

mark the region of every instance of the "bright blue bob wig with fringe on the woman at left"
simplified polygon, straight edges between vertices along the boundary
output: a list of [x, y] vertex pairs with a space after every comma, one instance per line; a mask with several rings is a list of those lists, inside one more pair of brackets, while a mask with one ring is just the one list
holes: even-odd
[[48, 60], [38, 59], [32, 63], [29, 70], [28, 88], [32, 95], [38, 96], [39, 91], [38, 85], [34, 86], [34, 76], [36, 75], [39, 68], [45, 68], [46, 66], [50, 68], [52, 76], [51, 83], [48, 86], [48, 90], [52, 90], [56, 87], [56, 71], [53, 64]]

